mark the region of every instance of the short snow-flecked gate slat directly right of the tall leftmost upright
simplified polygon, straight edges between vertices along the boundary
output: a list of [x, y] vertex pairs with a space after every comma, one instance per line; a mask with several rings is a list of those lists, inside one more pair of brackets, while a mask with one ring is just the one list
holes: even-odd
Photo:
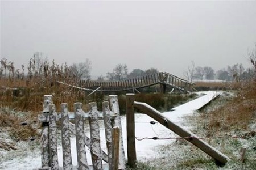
[[57, 124], [54, 104], [49, 104], [49, 146], [51, 170], [58, 170]]

